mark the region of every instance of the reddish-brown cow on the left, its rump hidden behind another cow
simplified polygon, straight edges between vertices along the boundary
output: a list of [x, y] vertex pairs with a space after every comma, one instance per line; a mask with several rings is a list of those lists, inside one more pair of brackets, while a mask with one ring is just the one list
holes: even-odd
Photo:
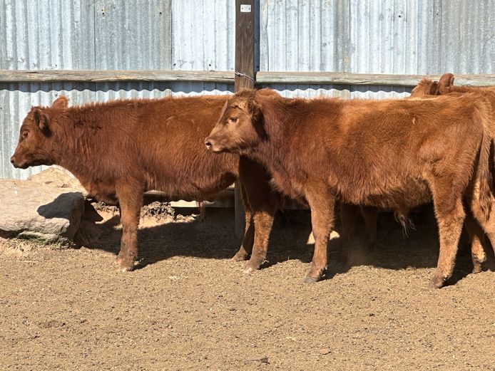
[[11, 162], [23, 169], [58, 164], [96, 199], [118, 202], [123, 234], [117, 263], [123, 271], [133, 269], [138, 256], [143, 192], [158, 189], [169, 197], [201, 201], [239, 177], [246, 231], [235, 260], [252, 253], [245, 268], [251, 271], [265, 261], [277, 200], [260, 164], [205, 150], [204, 138], [226, 100], [202, 96], [68, 107], [61, 97], [51, 107], [31, 109]]

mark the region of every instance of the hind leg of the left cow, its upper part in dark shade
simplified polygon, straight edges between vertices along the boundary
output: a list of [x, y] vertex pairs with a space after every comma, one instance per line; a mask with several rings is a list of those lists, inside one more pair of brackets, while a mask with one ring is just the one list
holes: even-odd
[[[268, 239], [278, 202], [277, 195], [270, 187], [270, 175], [262, 165], [240, 157], [239, 173], [243, 200], [245, 207], [247, 206], [246, 234], [240, 251], [243, 248], [246, 250], [245, 241], [250, 242], [252, 239], [251, 257], [244, 269], [245, 273], [250, 273], [259, 269], [266, 260]], [[252, 216], [250, 224], [248, 224], [248, 213]], [[254, 238], [250, 236], [252, 229], [254, 229]]]

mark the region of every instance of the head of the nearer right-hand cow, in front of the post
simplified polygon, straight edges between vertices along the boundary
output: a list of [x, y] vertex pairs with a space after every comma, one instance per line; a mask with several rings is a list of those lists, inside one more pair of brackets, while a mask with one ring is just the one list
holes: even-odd
[[255, 90], [242, 90], [233, 95], [222, 110], [205, 145], [211, 152], [243, 154], [266, 138], [260, 105]]

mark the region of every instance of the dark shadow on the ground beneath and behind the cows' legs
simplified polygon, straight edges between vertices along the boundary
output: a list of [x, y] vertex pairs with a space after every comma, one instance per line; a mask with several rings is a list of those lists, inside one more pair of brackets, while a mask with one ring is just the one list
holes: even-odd
[[[182, 211], [184, 212], [184, 211]], [[204, 220], [188, 218], [184, 222], [171, 222], [153, 226], [141, 226], [138, 231], [139, 264], [143, 268], [174, 256], [229, 259], [240, 246], [234, 234], [233, 209], [208, 209]], [[377, 245], [369, 250], [364, 241], [364, 225], [357, 220], [356, 233], [352, 238], [347, 261], [342, 258], [340, 239], [329, 243], [329, 267], [325, 278], [345, 273], [353, 266], [374, 266], [394, 270], [407, 268], [434, 268], [437, 266], [439, 242], [437, 224], [432, 208], [411, 215], [415, 229], [404, 234], [402, 226], [392, 213], [379, 214]], [[121, 228], [118, 213], [99, 224], [98, 238], [89, 244], [90, 249], [101, 249], [118, 254]], [[337, 221], [337, 230], [339, 223]], [[311, 222], [307, 210], [284, 211], [277, 214], [270, 235], [267, 261], [262, 268], [297, 259], [310, 263], [314, 244], [308, 241]], [[487, 254], [493, 254], [486, 249]], [[240, 262], [240, 270], [243, 263]], [[493, 264], [492, 264], [493, 265]], [[494, 267], [489, 266], [492, 270]], [[472, 270], [469, 246], [461, 243], [456, 258], [454, 277], [449, 283], [464, 278]]]

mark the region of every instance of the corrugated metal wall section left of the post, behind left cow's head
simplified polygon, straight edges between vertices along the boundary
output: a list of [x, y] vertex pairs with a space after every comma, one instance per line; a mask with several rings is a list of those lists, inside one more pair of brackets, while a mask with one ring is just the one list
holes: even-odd
[[[3, 0], [0, 69], [233, 70], [235, 2], [230, 0]], [[215, 83], [0, 83], [0, 178], [32, 105], [58, 95], [71, 104], [118, 98], [229, 93]]]

